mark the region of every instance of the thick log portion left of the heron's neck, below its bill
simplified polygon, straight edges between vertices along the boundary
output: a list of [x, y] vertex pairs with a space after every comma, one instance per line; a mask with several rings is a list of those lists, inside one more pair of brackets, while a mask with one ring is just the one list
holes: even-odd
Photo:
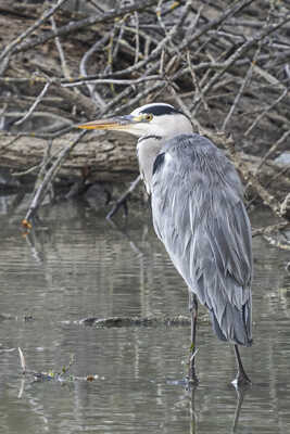
[[[68, 133], [53, 140], [51, 155], [56, 155], [75, 138], [76, 135]], [[88, 135], [71, 152], [59, 171], [59, 177], [78, 179], [86, 173], [91, 181], [131, 180], [138, 174], [135, 141], [128, 136], [117, 140], [112, 132], [110, 140], [106, 133]], [[27, 173], [36, 167], [36, 175], [47, 146], [48, 141], [39, 138], [21, 137], [13, 143], [10, 137], [2, 137], [0, 166], [11, 168], [12, 175]]]

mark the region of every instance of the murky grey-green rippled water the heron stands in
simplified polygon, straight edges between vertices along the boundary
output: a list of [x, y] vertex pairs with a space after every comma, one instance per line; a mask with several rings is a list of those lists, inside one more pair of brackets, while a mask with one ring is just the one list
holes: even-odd
[[[290, 432], [289, 252], [254, 239], [254, 345], [242, 348], [253, 386], [237, 416], [235, 357], [198, 330], [200, 385], [190, 393], [189, 327], [96, 328], [87, 317], [187, 315], [187, 290], [156, 240], [149, 213], [127, 233], [102, 212], [67, 202], [47, 208], [23, 237], [21, 206], [1, 199], [0, 433], [286, 433]], [[268, 219], [253, 216], [255, 226]], [[122, 219], [118, 224], [124, 226]], [[35, 382], [27, 369], [72, 378]], [[88, 375], [94, 380], [86, 381]]]

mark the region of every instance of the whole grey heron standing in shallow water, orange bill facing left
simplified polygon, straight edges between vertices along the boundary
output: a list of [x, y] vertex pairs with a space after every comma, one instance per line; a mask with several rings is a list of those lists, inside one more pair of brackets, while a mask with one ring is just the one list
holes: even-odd
[[237, 384], [250, 383], [238, 345], [252, 344], [251, 226], [234, 165], [209, 139], [193, 133], [190, 119], [169, 104], [147, 104], [127, 116], [78, 127], [139, 138], [137, 155], [154, 229], [189, 288], [190, 380], [198, 381], [199, 299], [210, 310], [217, 337], [234, 344]]

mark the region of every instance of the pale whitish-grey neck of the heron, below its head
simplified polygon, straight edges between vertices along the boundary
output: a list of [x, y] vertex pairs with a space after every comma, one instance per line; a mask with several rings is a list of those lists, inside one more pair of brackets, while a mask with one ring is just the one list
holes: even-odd
[[148, 194], [151, 193], [151, 181], [154, 161], [163, 145], [160, 136], [144, 136], [138, 140], [137, 156], [142, 180], [144, 181]]

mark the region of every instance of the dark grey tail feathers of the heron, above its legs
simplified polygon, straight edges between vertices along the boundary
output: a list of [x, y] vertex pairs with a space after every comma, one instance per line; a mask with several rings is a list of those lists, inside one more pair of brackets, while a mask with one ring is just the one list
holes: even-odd
[[231, 344], [252, 345], [251, 301], [244, 304], [241, 310], [227, 303], [219, 321], [213, 309], [210, 312], [213, 330], [218, 339]]

